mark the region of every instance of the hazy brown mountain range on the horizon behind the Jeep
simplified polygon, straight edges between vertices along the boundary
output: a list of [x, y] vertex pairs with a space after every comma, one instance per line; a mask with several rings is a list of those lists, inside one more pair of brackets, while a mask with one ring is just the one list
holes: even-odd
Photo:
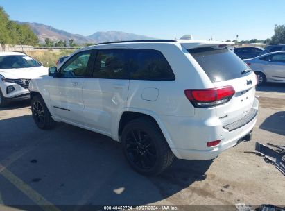
[[86, 43], [100, 43], [100, 42], [114, 42], [123, 40], [153, 40], [153, 37], [147, 37], [144, 35], [136, 35], [132, 33], [124, 33], [121, 31], [98, 31], [89, 36], [83, 36], [79, 34], [69, 33], [64, 30], [53, 28], [52, 26], [47, 26], [39, 23], [30, 22], [17, 22], [17, 24], [28, 24], [33, 30], [35, 35], [37, 35], [39, 42], [44, 43], [46, 38], [49, 38], [53, 42], [58, 42], [59, 40], [74, 40], [77, 44]]

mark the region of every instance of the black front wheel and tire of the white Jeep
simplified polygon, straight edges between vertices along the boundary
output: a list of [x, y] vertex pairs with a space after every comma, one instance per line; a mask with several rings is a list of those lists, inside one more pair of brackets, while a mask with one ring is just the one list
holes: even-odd
[[42, 96], [36, 95], [31, 100], [31, 110], [33, 119], [38, 128], [47, 130], [55, 126], [55, 121], [51, 117], [49, 109], [46, 107], [46, 103], [42, 99]]

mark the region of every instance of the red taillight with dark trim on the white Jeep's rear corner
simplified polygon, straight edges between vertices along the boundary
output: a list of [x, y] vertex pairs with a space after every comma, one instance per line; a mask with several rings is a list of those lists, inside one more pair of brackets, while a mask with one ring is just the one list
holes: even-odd
[[235, 91], [232, 86], [225, 86], [205, 90], [184, 90], [184, 93], [194, 107], [208, 108], [227, 103]]

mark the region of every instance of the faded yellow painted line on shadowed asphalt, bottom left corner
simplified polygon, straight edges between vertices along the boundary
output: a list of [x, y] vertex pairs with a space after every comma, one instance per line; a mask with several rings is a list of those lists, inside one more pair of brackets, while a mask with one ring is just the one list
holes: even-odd
[[33, 189], [28, 184], [24, 183], [23, 180], [12, 174], [11, 171], [3, 167], [0, 163], [1, 175], [6, 178], [12, 185], [17, 187], [21, 192], [23, 192], [29, 199], [31, 199], [36, 205], [39, 205], [40, 208], [44, 211], [60, 211], [60, 209], [56, 208], [55, 205], [44, 199], [44, 196], [37, 193], [35, 189]]

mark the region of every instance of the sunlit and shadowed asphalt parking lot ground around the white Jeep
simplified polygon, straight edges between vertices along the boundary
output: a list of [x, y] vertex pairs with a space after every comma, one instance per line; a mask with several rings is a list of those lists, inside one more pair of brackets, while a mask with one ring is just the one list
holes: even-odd
[[[67, 124], [40, 130], [29, 102], [0, 109], [0, 204], [285, 205], [285, 179], [252, 153], [255, 142], [285, 145], [285, 85], [258, 87], [251, 142], [215, 160], [175, 160], [163, 174], [132, 171], [120, 144]], [[77, 208], [74, 208], [75, 210]], [[78, 209], [77, 209], [78, 210]]]

